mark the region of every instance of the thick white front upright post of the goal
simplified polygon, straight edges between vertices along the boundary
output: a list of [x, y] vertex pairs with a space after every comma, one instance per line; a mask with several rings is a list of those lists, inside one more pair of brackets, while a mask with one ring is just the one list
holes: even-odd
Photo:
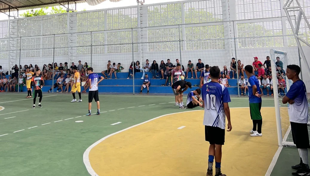
[[277, 80], [277, 71], [276, 71], [276, 63], [275, 63], [275, 53], [274, 49], [270, 50], [271, 55], [271, 73], [272, 73], [272, 86], [273, 87], [273, 100], [274, 100], [274, 106], [275, 106], [275, 112], [276, 112], [276, 124], [277, 124], [277, 135], [278, 135], [278, 145], [282, 146], [282, 127], [281, 127], [281, 115], [280, 115], [280, 103], [278, 100], [278, 80]]

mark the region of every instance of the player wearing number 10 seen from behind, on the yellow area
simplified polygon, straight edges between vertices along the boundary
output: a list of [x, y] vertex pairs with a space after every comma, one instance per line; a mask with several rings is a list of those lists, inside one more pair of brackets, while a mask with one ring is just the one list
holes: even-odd
[[213, 161], [215, 157], [215, 176], [226, 176], [221, 173], [222, 145], [225, 142], [225, 116], [228, 130], [232, 130], [228, 102], [230, 97], [226, 86], [219, 84], [220, 70], [210, 68], [211, 82], [202, 86], [202, 100], [204, 107], [203, 125], [205, 125], [206, 141], [209, 141], [209, 160], [207, 176], [213, 175]]

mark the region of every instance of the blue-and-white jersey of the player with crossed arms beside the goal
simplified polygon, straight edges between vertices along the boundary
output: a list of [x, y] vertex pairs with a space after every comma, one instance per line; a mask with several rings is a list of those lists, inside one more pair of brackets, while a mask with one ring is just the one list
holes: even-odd
[[295, 81], [287, 92], [286, 96], [294, 100], [293, 104], [288, 104], [288, 112], [291, 122], [308, 122], [308, 101], [306, 86], [302, 80]]

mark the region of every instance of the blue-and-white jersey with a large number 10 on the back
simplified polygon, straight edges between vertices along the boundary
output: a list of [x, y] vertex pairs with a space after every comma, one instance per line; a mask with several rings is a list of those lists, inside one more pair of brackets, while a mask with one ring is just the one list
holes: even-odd
[[225, 112], [223, 103], [230, 102], [227, 87], [218, 82], [209, 82], [202, 86], [204, 101], [203, 125], [225, 129]]

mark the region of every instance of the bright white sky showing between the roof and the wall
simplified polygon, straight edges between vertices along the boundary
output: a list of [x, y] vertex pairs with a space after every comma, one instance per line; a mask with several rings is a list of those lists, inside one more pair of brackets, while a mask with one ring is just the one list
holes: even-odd
[[[153, 3], [162, 3], [162, 2], [175, 2], [180, 0], [145, 0], [145, 4], [153, 4]], [[96, 10], [96, 9], [106, 9], [106, 8], [114, 8], [114, 7], [126, 7], [126, 6], [136, 6], [136, 0], [121, 0], [120, 2], [110, 2], [106, 0], [96, 6], [90, 6], [86, 2], [85, 3], [78, 3], [77, 4], [77, 11], [82, 11], [83, 9], [86, 10]], [[71, 7], [72, 8], [72, 7]], [[50, 11], [51, 8], [47, 10]], [[19, 14], [24, 13], [25, 11], [19, 11]], [[15, 14], [17, 15], [17, 13]], [[0, 20], [8, 20], [8, 16], [1, 13]]]

